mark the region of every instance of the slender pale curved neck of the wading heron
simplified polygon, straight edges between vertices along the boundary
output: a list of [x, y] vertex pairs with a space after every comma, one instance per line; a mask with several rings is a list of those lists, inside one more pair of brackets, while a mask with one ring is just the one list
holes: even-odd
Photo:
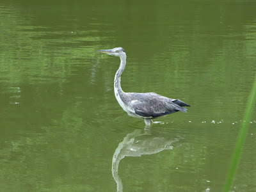
[[123, 93], [123, 90], [121, 88], [121, 74], [124, 71], [125, 68], [125, 64], [126, 64], [126, 54], [124, 52], [124, 54], [122, 56], [120, 56], [120, 66], [118, 68], [118, 70], [116, 71], [116, 75], [115, 75], [115, 79], [114, 79], [114, 90], [115, 90], [115, 95], [116, 92], [117, 93]]

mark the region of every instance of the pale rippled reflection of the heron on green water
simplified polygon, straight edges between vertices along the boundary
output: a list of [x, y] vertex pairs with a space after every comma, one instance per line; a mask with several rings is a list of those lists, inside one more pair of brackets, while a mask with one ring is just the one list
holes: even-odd
[[163, 150], [172, 150], [180, 147], [183, 139], [170, 132], [145, 131], [143, 129], [136, 129], [127, 134], [124, 140], [119, 143], [112, 159], [112, 176], [116, 182], [116, 191], [123, 191], [122, 179], [118, 175], [118, 166], [122, 159], [125, 157], [158, 154]]

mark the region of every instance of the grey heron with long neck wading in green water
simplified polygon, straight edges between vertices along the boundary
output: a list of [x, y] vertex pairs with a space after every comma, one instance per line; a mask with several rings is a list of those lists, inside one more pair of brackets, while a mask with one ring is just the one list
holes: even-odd
[[121, 88], [121, 75], [126, 65], [126, 54], [122, 47], [99, 50], [111, 56], [119, 56], [121, 63], [114, 79], [115, 97], [120, 106], [130, 116], [143, 118], [146, 125], [151, 125], [152, 119], [177, 111], [186, 112], [188, 104], [179, 99], [170, 99], [157, 93], [126, 93]]

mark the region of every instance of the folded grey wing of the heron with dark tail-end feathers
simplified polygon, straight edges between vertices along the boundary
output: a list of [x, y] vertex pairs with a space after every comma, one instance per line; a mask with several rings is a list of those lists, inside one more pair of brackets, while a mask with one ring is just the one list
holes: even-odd
[[[140, 116], [156, 118], [177, 111], [186, 112], [188, 104], [181, 100], [170, 99], [157, 93], [129, 93], [129, 106]], [[133, 101], [133, 102], [132, 102]]]

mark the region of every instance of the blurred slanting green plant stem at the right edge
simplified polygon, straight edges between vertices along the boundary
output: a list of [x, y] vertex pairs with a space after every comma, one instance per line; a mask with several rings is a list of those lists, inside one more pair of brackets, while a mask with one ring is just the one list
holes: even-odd
[[235, 147], [232, 161], [230, 164], [230, 168], [228, 171], [227, 180], [226, 180], [225, 189], [224, 189], [225, 192], [230, 191], [232, 182], [234, 180], [237, 165], [239, 164], [239, 159], [241, 156], [241, 151], [242, 151], [244, 141], [245, 141], [245, 138], [246, 138], [246, 135], [248, 132], [248, 127], [250, 124], [250, 119], [252, 116], [253, 108], [255, 106], [255, 100], [256, 100], [256, 74], [255, 74], [255, 80], [254, 80], [254, 83], [252, 86], [252, 91], [248, 98], [248, 102], [247, 102], [246, 109], [244, 112], [243, 123], [241, 125], [241, 129], [240, 129], [238, 137], [237, 137], [236, 147]]

